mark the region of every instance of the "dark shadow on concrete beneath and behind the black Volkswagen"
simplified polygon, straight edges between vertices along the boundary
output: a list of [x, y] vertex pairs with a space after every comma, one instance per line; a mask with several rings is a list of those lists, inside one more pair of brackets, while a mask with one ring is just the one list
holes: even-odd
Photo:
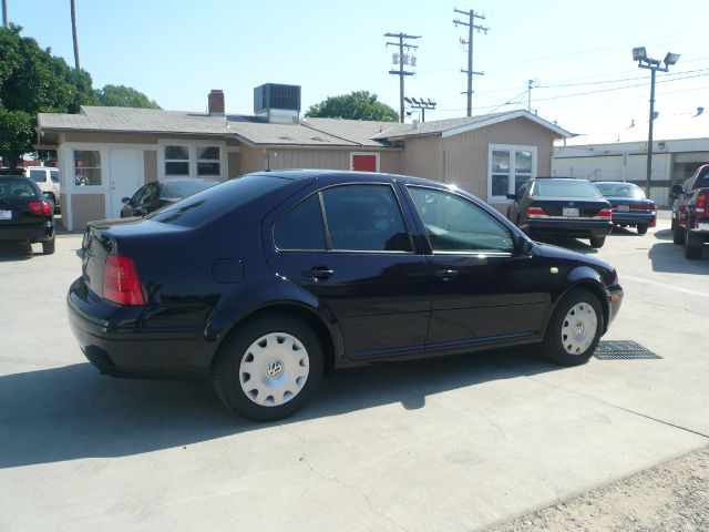
[[207, 382], [114, 379], [89, 364], [7, 375], [0, 468], [133, 456], [382, 405], [413, 410], [432, 393], [557, 369], [527, 348], [340, 370], [300, 412], [271, 423], [230, 413]]

